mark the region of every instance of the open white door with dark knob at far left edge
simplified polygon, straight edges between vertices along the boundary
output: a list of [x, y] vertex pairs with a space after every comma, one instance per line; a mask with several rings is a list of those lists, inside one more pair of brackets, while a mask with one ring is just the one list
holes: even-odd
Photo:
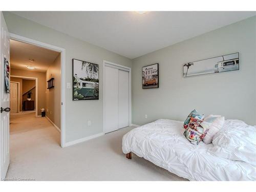
[[10, 94], [6, 89], [8, 80], [10, 83], [10, 73], [7, 67], [10, 62], [10, 40], [2, 12], [0, 12], [0, 17], [0, 177], [3, 180], [10, 164]]

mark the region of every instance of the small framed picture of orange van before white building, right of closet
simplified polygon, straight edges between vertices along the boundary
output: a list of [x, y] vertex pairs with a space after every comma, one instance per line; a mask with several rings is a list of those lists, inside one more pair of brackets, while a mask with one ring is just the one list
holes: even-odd
[[142, 88], [159, 88], [158, 63], [142, 67]]

